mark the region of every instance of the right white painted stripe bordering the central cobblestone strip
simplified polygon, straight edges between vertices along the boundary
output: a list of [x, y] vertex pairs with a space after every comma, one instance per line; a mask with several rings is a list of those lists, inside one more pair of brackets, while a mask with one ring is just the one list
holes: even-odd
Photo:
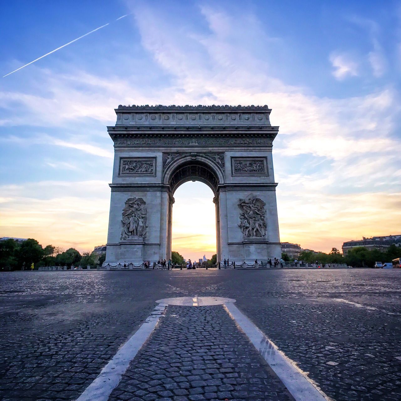
[[306, 373], [296, 366], [293, 360], [280, 351], [233, 303], [227, 303], [224, 306], [296, 401], [331, 400], [318, 389]]

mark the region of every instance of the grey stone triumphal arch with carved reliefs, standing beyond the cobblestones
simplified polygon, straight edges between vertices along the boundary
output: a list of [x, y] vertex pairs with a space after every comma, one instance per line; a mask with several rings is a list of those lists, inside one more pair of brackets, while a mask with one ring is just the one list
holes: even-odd
[[[169, 259], [174, 191], [214, 193], [217, 260], [281, 257], [267, 106], [118, 106], [105, 264]], [[194, 211], [196, 213], [196, 211]]]

